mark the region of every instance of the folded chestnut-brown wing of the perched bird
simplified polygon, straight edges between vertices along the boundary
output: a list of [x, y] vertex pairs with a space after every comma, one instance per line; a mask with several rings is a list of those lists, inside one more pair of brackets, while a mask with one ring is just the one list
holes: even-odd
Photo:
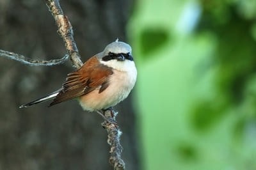
[[49, 107], [86, 95], [99, 86], [101, 87], [99, 93], [108, 88], [108, 79], [113, 74], [112, 69], [100, 64], [98, 59], [96, 64], [93, 63], [93, 59], [96, 62], [95, 57], [88, 60], [91, 60], [89, 63], [93, 65], [86, 65], [87, 61], [79, 70], [68, 74], [66, 81], [63, 83], [63, 89], [54, 98]]

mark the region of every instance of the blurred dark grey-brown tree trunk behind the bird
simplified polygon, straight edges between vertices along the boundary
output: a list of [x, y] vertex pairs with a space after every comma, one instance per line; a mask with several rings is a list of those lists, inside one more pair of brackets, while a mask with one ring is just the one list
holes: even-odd
[[[115, 38], [125, 41], [131, 1], [61, 1], [72, 22], [82, 61]], [[67, 51], [44, 1], [0, 1], [0, 49], [33, 59], [63, 57]], [[75, 100], [19, 109], [60, 88], [70, 63], [45, 67], [0, 58], [0, 169], [113, 169], [108, 162], [106, 131], [95, 112], [82, 111]], [[122, 158], [138, 168], [131, 97], [115, 107], [122, 127]]]

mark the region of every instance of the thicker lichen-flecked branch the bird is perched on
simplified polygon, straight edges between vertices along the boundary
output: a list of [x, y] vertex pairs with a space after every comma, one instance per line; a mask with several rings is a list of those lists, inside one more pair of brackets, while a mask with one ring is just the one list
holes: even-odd
[[[45, 0], [45, 2], [56, 21], [56, 24], [58, 26], [58, 33], [65, 42], [65, 46], [67, 48], [68, 55], [70, 56], [70, 59], [72, 61], [72, 65], [76, 66], [77, 69], [80, 68], [81, 66], [83, 66], [83, 63], [80, 59], [80, 55], [76, 47], [76, 42], [73, 38], [72, 26], [67, 16], [63, 14], [58, 0]], [[117, 112], [113, 111], [113, 109], [108, 109], [104, 111], [104, 116], [114, 120], [113, 122], [115, 122], [116, 114]], [[108, 131], [108, 143], [111, 146], [109, 151], [109, 162], [111, 166], [113, 166], [115, 170], [125, 169], [124, 160], [122, 160], [120, 156], [122, 153], [122, 146], [120, 144], [120, 135], [122, 134], [122, 132], [115, 123], [108, 123], [107, 121], [104, 121], [104, 123], [102, 123], [102, 126]]]

